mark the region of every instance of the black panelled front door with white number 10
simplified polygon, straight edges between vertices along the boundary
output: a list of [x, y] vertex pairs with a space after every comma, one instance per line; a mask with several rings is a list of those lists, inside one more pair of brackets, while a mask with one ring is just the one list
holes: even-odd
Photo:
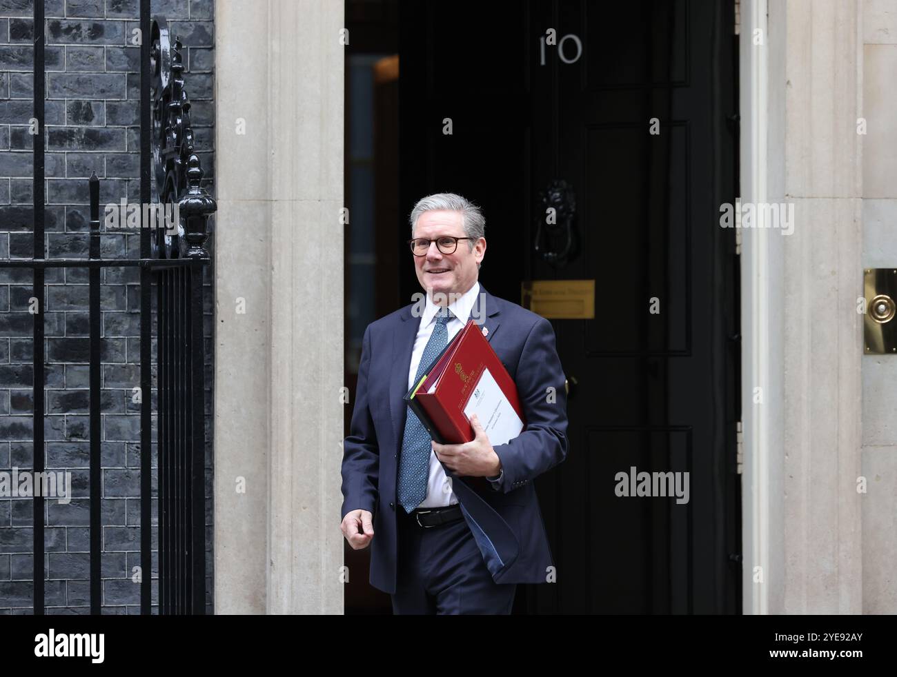
[[[557, 582], [521, 586], [515, 611], [740, 612], [731, 4], [508, 6], [400, 5], [399, 130], [402, 211], [481, 204], [492, 293], [595, 283], [594, 318], [552, 319], [570, 455], [536, 488]], [[678, 499], [618, 495], [620, 473], [667, 472]]]

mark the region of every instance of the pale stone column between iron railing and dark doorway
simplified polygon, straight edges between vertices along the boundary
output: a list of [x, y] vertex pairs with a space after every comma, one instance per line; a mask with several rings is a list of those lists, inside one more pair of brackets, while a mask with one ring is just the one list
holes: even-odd
[[215, 4], [216, 611], [342, 613], [344, 5], [247, 5]]

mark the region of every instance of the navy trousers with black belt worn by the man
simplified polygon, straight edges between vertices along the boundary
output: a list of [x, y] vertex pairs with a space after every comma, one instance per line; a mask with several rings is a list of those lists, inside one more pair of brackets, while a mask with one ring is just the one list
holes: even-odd
[[396, 614], [508, 614], [517, 584], [497, 584], [464, 519], [422, 527], [401, 506]]

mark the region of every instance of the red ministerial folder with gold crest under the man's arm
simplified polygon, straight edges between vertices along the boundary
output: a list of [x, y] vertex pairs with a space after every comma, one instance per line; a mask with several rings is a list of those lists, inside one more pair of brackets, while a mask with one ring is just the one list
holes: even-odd
[[[501, 388], [501, 394], [525, 426], [514, 379], [510, 378], [508, 370], [483, 336], [482, 328], [473, 319], [467, 321], [430, 369], [412, 386], [405, 395], [405, 402], [436, 441], [441, 444], [469, 442], [475, 435], [465, 409], [485, 372], [488, 372], [487, 378], [494, 379], [495, 385]], [[479, 418], [485, 427], [483, 416]]]

